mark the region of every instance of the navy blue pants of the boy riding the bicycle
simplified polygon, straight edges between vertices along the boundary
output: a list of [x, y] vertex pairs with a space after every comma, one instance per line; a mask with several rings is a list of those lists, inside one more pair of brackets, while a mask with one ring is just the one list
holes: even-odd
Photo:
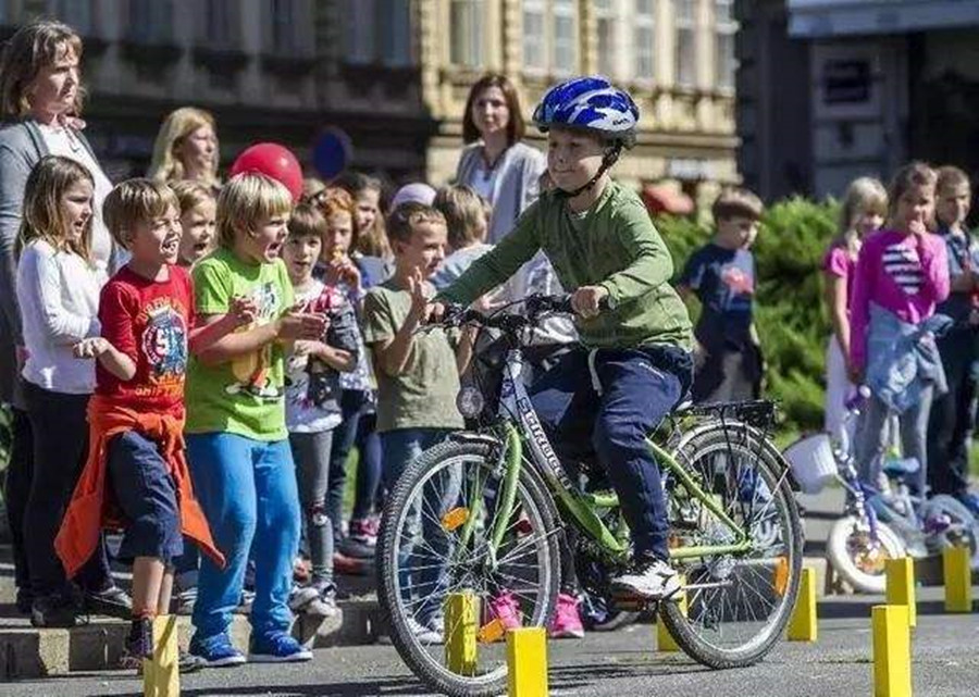
[[599, 395], [587, 358], [583, 347], [565, 354], [531, 389], [534, 408], [561, 460], [597, 456], [619, 495], [635, 558], [666, 559], [666, 500], [645, 437], [685, 394], [693, 361], [673, 347], [602, 349], [595, 357]]

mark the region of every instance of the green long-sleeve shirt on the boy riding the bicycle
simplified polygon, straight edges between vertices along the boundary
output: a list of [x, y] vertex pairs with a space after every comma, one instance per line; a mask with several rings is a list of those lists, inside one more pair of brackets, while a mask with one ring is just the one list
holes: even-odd
[[478, 259], [439, 294], [469, 304], [507, 281], [538, 249], [550, 260], [568, 291], [604, 286], [609, 309], [591, 320], [575, 318], [591, 348], [648, 344], [690, 347], [691, 323], [669, 284], [673, 260], [639, 196], [611, 182], [582, 216], [563, 198], [543, 194], [496, 247]]

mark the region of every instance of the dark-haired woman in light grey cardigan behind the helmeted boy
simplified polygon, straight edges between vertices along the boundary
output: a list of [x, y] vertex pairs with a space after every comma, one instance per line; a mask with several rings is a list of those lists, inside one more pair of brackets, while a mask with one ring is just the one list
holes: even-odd
[[456, 170], [458, 184], [490, 201], [493, 213], [486, 241], [497, 244], [538, 194], [547, 169], [544, 153], [524, 142], [523, 112], [513, 84], [490, 73], [469, 90], [462, 139], [467, 146]]

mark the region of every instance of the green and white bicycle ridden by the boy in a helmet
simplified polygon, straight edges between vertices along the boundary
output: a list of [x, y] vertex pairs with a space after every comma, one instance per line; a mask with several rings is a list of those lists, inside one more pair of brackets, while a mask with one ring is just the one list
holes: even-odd
[[[566, 526], [580, 531], [579, 569], [590, 560], [607, 578], [630, 561], [616, 495], [584, 495], [571, 484], [521, 379], [521, 339], [553, 312], [570, 312], [567, 297], [528, 298], [522, 315], [447, 316], [441, 326], [475, 323], [501, 334], [500, 351], [480, 358], [479, 388], [458, 400], [481, 426], [420, 456], [387, 499], [380, 603], [401, 658], [448, 695], [505, 689], [499, 608], [524, 626], [547, 625]], [[773, 419], [770, 402], [684, 409], [647, 438], [662, 471], [670, 557], [685, 578], [687, 610], [669, 601], [650, 609], [689, 656], [715, 669], [761, 660], [798, 593], [802, 527], [788, 465], [768, 439]], [[474, 625], [446, 626], [449, 594], [475, 598]], [[459, 630], [479, 642], [476, 656], [461, 662], [443, 645]]]

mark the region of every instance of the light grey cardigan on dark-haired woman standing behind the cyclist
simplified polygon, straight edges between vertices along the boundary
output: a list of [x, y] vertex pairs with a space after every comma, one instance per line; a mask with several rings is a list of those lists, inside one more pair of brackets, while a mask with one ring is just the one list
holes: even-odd
[[[471, 184], [476, 176], [483, 141], [476, 140], [462, 149], [459, 166], [456, 169], [456, 181], [459, 184]], [[493, 197], [493, 215], [490, 219], [490, 232], [486, 241], [497, 244], [506, 237], [513, 223], [526, 207], [537, 199], [538, 179], [547, 170], [547, 158], [536, 148], [515, 142], [507, 148], [499, 163]]]

